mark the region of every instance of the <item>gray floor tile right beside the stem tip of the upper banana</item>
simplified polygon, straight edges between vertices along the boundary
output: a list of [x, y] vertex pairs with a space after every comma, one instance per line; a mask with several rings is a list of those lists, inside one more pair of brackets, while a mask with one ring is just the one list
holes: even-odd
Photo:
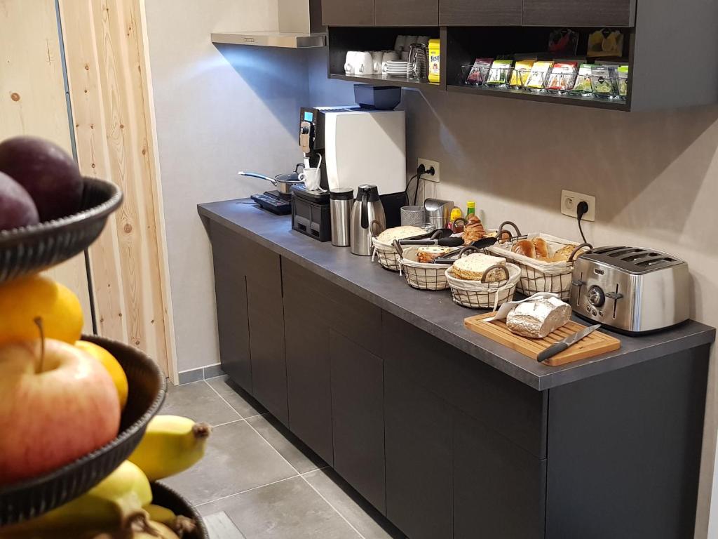
[[296, 474], [246, 422], [237, 421], [215, 428], [205, 458], [163, 482], [197, 505]]

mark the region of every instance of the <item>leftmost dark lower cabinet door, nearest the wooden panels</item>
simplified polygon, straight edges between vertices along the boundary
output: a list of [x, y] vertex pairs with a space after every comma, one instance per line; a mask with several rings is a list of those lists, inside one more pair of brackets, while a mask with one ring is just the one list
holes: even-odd
[[222, 369], [252, 393], [245, 240], [224, 226], [210, 224]]

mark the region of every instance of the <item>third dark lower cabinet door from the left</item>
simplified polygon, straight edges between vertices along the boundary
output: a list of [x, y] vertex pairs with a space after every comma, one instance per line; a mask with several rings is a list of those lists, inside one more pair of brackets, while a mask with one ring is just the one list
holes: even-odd
[[282, 259], [289, 428], [333, 464], [329, 327], [320, 316], [317, 292], [286, 271], [290, 264]]

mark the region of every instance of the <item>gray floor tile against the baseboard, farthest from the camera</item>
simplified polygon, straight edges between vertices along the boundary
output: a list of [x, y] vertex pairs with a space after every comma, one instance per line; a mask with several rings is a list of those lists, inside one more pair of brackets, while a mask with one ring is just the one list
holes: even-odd
[[167, 397], [161, 413], [184, 415], [210, 425], [240, 419], [239, 414], [220, 399], [204, 380], [179, 386], [167, 384]]

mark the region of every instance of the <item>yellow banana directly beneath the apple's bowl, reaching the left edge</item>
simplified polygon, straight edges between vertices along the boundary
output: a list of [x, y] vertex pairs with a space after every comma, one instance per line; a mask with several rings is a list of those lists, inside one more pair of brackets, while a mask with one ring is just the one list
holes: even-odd
[[74, 537], [87, 530], [125, 528], [143, 506], [152, 501], [149, 481], [138, 466], [124, 461], [82, 496], [40, 517], [0, 530], [0, 538], [59, 538], [69, 530]]

